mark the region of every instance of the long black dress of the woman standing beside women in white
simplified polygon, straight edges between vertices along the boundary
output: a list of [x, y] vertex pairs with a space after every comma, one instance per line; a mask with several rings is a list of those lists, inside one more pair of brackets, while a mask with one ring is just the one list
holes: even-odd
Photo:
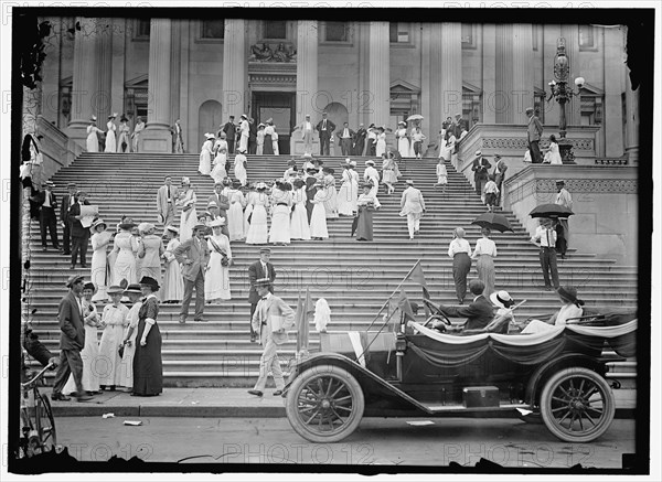
[[147, 334], [147, 344], [140, 346], [145, 320], [138, 322], [136, 354], [134, 355], [134, 394], [159, 395], [163, 392], [163, 364], [161, 362], [161, 332], [154, 323]]

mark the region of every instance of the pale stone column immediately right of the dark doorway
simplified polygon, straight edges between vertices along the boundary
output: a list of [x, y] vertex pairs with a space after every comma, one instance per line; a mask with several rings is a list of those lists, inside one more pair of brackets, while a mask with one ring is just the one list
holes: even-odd
[[321, 109], [318, 106], [318, 22], [317, 20], [297, 21], [297, 120], [301, 124], [307, 114], [317, 121]]

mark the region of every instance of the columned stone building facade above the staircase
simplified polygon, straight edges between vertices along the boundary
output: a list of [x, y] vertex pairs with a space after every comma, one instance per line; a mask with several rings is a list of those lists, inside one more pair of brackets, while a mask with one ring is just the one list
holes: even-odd
[[[42, 116], [84, 144], [92, 115], [147, 120], [143, 151], [169, 152], [181, 119], [188, 152], [229, 115], [273, 118], [281, 152], [323, 110], [337, 126], [395, 129], [424, 116], [427, 142], [448, 117], [524, 126], [535, 106], [558, 132], [549, 97], [557, 40], [566, 40], [568, 127], [591, 127], [595, 157], [637, 158], [638, 105], [624, 65], [626, 28], [577, 24], [324, 22], [311, 20], [51, 18]], [[595, 139], [592, 138], [595, 136]]]

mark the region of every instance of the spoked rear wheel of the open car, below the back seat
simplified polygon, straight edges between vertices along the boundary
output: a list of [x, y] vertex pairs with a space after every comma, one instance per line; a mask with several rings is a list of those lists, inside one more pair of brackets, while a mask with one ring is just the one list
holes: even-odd
[[611, 388], [599, 374], [565, 368], [547, 381], [541, 415], [549, 431], [566, 442], [589, 442], [607, 431], [616, 410]]

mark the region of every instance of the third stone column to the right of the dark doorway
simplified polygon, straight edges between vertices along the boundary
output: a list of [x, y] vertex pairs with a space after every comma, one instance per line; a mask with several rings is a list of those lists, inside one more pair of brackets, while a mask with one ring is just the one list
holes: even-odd
[[441, 23], [441, 118], [462, 114], [462, 24]]

